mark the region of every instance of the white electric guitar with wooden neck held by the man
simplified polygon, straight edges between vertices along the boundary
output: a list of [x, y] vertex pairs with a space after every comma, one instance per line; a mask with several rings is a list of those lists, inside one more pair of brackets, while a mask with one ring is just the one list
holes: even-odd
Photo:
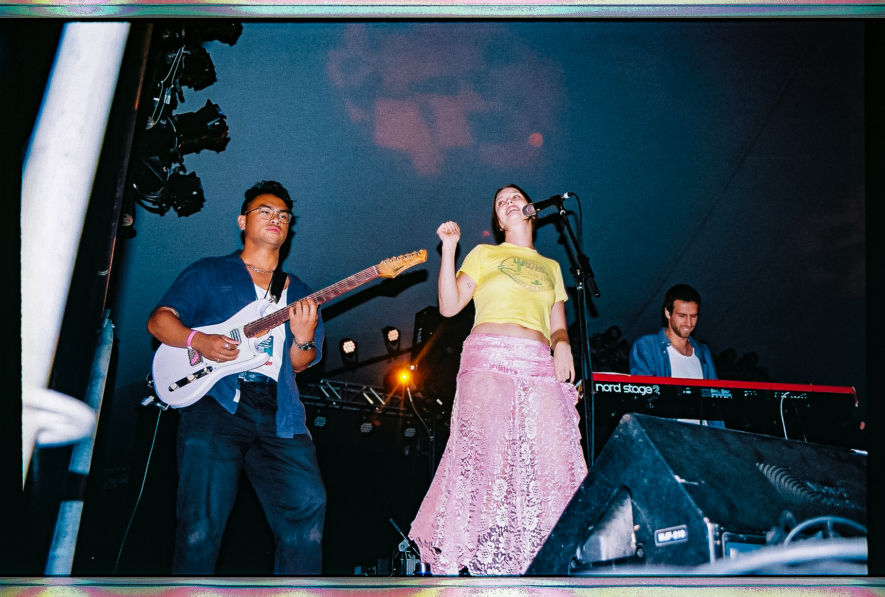
[[[405, 269], [425, 261], [427, 249], [390, 257], [380, 264], [342, 279], [337, 284], [323, 288], [310, 297], [317, 304], [322, 304], [375, 278], [396, 278]], [[233, 361], [215, 363], [204, 359], [194, 348], [174, 348], [161, 344], [154, 356], [152, 370], [154, 389], [159, 399], [176, 409], [190, 406], [224, 376], [249, 371], [263, 364], [267, 354], [258, 348], [261, 336], [289, 321], [289, 309], [277, 310], [266, 316], [265, 313], [272, 305], [267, 299], [258, 299], [250, 302], [227, 321], [194, 328], [198, 332], [221, 333], [240, 341], [240, 353]]]

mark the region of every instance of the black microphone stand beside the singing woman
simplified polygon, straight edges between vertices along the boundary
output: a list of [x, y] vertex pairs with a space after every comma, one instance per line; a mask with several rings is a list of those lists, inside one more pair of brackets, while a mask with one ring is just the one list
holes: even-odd
[[[574, 193], [566, 195], [577, 197]], [[569, 238], [572, 239], [572, 247], [574, 255], [577, 259], [578, 266], [570, 267], [574, 278], [574, 287], [578, 293], [578, 330], [581, 336], [581, 382], [584, 386], [584, 429], [587, 438], [587, 465], [593, 466], [593, 452], [596, 443], [596, 405], [593, 400], [593, 368], [590, 365], [590, 344], [589, 335], [587, 333], [587, 289], [594, 297], [599, 296], [599, 288], [596, 287], [596, 279], [593, 276], [593, 269], [590, 267], [589, 259], [581, 250], [581, 244], [574, 236], [572, 224], [566, 218], [566, 208], [563, 207], [565, 196], [560, 197], [556, 202], [559, 210], [559, 217], [562, 218], [563, 224], [566, 226]], [[587, 403], [589, 402], [589, 407]]]

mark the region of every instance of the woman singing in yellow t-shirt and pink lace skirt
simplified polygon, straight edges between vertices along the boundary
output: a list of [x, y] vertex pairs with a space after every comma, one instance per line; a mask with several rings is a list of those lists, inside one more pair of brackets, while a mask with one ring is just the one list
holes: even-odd
[[504, 242], [475, 247], [457, 277], [458, 225], [436, 231], [440, 312], [451, 317], [473, 298], [476, 318], [450, 439], [410, 532], [435, 574], [522, 574], [587, 475], [567, 383], [566, 289], [557, 262], [534, 248], [527, 203], [516, 185], [496, 191], [492, 224]]

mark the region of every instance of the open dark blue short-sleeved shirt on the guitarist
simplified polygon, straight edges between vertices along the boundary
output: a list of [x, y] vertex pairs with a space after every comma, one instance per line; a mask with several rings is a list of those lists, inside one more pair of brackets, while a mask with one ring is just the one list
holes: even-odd
[[[166, 291], [158, 307], [174, 309], [181, 317], [181, 323], [188, 327], [219, 324], [236, 315], [237, 311], [255, 302], [255, 285], [240, 259], [241, 250], [230, 255], [205, 257], [190, 264], [175, 279], [172, 287]], [[295, 302], [312, 294], [311, 288], [293, 274], [289, 275], [287, 301]], [[298, 398], [298, 387], [295, 383], [295, 372], [289, 358], [289, 348], [294, 337], [289, 325], [286, 329], [286, 341], [282, 347], [282, 364], [280, 377], [277, 380], [277, 437], [290, 438], [296, 433], [307, 433], [304, 422], [304, 404]], [[317, 331], [313, 334], [313, 342], [317, 345], [317, 356], [313, 364], [317, 364], [323, 352], [323, 320], [319, 318]], [[234, 402], [239, 384], [236, 375], [227, 375], [210, 388], [207, 394], [219, 402], [231, 414], [236, 412]]]

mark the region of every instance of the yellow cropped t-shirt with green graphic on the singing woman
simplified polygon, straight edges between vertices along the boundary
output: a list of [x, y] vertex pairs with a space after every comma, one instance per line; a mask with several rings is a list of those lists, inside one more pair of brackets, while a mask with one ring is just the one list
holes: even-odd
[[502, 242], [474, 247], [461, 272], [476, 282], [473, 325], [519, 324], [550, 340], [550, 309], [568, 300], [557, 262], [535, 249]]

